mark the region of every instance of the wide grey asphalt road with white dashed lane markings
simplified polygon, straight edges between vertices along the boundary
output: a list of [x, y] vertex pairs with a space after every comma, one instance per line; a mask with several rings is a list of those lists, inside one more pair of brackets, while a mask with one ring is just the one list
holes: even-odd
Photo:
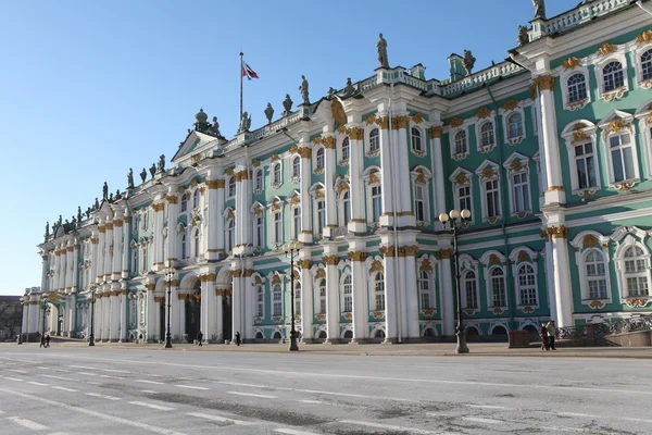
[[649, 434], [650, 360], [0, 346], [0, 434]]

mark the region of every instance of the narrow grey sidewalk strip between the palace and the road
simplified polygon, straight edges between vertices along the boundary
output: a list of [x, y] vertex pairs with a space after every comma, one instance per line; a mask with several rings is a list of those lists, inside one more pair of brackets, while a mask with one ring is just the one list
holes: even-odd
[[[14, 344], [5, 344], [16, 346]], [[469, 353], [455, 355], [454, 343], [428, 343], [428, 344], [403, 344], [403, 345], [325, 345], [325, 344], [299, 344], [299, 353], [313, 355], [350, 355], [350, 356], [410, 356], [410, 357], [542, 357], [542, 358], [643, 358], [652, 359], [652, 347], [563, 347], [560, 344], [557, 350], [543, 351], [536, 344], [527, 348], [507, 348], [506, 343], [478, 343], [468, 344]], [[22, 346], [38, 346], [38, 343], [24, 344]], [[51, 347], [88, 347], [88, 343], [77, 339], [61, 338], [53, 339]], [[288, 353], [287, 344], [246, 344], [236, 345], [204, 345], [199, 347], [190, 344], [173, 344], [172, 349], [165, 349], [161, 344], [136, 344], [136, 343], [98, 343], [96, 348], [105, 349], [138, 349], [138, 350], [167, 350], [167, 351], [202, 351], [202, 352], [268, 352]]]

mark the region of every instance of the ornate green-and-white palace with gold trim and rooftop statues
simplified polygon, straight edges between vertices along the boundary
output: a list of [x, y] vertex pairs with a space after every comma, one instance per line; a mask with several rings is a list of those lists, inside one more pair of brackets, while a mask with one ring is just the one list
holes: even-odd
[[88, 337], [95, 295], [97, 340], [159, 341], [170, 290], [174, 341], [287, 339], [292, 302], [304, 341], [452, 337], [451, 209], [471, 211], [469, 335], [652, 312], [651, 14], [539, 11], [504, 62], [451, 54], [446, 79], [378, 50], [369, 77], [230, 139], [200, 110], [171, 167], [60, 219], [23, 332], [48, 306], [51, 334]]

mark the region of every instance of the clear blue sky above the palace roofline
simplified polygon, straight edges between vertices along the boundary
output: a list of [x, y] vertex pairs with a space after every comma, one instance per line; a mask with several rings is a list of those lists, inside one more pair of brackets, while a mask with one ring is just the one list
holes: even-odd
[[[578, 2], [548, 0], [548, 16]], [[261, 77], [244, 83], [256, 128], [267, 102], [276, 119], [301, 100], [302, 74], [313, 101], [372, 76], [380, 32], [391, 66], [444, 79], [452, 52], [503, 60], [532, 15], [529, 0], [0, 1], [0, 295], [40, 286], [46, 221], [170, 160], [200, 107], [233, 137], [240, 51]]]

